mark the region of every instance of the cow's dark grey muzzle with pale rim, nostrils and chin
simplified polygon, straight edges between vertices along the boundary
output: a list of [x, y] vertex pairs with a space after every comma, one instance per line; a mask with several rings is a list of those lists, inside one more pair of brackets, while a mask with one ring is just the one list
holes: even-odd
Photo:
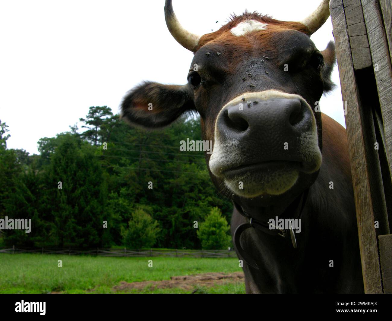
[[246, 93], [218, 114], [209, 166], [236, 194], [278, 195], [321, 165], [316, 120], [299, 95]]

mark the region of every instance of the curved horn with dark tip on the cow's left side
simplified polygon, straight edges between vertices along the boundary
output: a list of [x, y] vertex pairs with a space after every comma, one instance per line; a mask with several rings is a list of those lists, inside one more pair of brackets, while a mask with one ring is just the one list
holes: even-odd
[[169, 29], [173, 38], [183, 47], [195, 52], [200, 36], [190, 33], [180, 25], [180, 22], [178, 22], [177, 17], [174, 14], [171, 0], [165, 1], [165, 20], [167, 29]]

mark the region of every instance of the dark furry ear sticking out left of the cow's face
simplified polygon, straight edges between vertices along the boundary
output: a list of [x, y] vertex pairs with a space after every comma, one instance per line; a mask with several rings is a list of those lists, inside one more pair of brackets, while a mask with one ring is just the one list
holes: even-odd
[[187, 85], [145, 82], [127, 92], [121, 104], [121, 118], [131, 125], [154, 129], [193, 110], [193, 92]]

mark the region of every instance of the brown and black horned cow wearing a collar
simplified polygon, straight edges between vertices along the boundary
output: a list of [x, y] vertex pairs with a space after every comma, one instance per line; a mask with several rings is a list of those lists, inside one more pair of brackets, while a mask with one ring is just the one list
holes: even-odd
[[334, 87], [334, 44], [310, 40], [328, 2], [301, 22], [245, 11], [198, 36], [166, 0], [170, 33], [194, 53], [188, 82], [144, 82], [121, 104], [122, 119], [145, 129], [200, 114], [212, 182], [234, 204], [247, 293], [364, 291], [346, 131], [319, 109]]

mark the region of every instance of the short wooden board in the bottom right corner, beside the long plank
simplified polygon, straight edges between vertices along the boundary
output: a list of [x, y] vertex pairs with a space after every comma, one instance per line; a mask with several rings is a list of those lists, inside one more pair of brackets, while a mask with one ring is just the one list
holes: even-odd
[[384, 293], [392, 294], [392, 234], [379, 235], [378, 240]]

